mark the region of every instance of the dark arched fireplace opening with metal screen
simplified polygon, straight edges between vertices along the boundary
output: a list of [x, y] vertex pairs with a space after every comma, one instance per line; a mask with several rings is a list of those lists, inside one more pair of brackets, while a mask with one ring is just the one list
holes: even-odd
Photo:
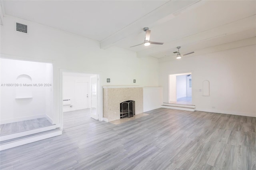
[[120, 119], [130, 118], [135, 115], [135, 101], [124, 101], [120, 103]]

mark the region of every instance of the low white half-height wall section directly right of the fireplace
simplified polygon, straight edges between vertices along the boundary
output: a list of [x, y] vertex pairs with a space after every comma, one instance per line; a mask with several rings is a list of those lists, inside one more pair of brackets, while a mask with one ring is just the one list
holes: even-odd
[[143, 112], [158, 109], [163, 104], [163, 87], [143, 88]]

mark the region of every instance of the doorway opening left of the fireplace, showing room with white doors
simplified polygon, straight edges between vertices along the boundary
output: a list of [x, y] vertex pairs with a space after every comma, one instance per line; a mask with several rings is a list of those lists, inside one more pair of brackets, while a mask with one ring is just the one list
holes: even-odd
[[62, 73], [63, 128], [98, 120], [98, 74]]

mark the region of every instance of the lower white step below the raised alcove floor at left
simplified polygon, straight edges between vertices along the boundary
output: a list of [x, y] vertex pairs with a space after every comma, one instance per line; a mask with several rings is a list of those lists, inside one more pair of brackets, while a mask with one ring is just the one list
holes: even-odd
[[52, 129], [52, 130], [47, 130], [47, 131], [39, 132], [39, 133], [36, 133], [36, 134], [30, 134], [30, 135], [27, 135], [27, 136], [13, 138], [13, 139], [10, 139], [10, 140], [4, 140], [4, 141], [0, 142], [0, 150], [6, 150], [6, 149], [9, 149], [9, 148], [14, 148], [16, 146], [36, 142], [38, 140], [51, 138], [53, 136], [58, 136], [58, 135], [61, 135], [61, 134], [62, 134], [62, 130], [60, 128], [55, 128], [55, 129]]

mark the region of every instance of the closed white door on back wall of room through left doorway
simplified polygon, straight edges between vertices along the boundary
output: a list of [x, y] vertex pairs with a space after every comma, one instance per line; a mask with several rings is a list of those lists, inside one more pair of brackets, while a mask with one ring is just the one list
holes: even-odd
[[75, 109], [88, 108], [88, 82], [75, 83]]

